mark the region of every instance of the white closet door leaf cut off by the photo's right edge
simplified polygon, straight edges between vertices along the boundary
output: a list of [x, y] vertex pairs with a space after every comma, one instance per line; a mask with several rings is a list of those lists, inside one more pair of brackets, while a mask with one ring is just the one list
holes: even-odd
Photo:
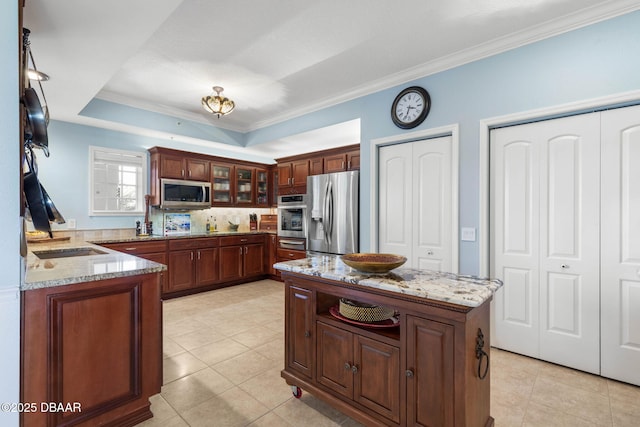
[[602, 375], [640, 385], [640, 107], [602, 113]]

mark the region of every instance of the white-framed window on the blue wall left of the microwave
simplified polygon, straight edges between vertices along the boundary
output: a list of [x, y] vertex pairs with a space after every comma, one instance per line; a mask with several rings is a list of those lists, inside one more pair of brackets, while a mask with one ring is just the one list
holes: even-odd
[[146, 153], [89, 147], [89, 215], [144, 213]]

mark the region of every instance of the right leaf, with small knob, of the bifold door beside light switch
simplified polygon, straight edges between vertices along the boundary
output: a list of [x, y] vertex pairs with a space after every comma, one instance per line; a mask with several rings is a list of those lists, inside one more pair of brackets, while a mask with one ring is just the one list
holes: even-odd
[[600, 119], [538, 124], [540, 357], [599, 373]]

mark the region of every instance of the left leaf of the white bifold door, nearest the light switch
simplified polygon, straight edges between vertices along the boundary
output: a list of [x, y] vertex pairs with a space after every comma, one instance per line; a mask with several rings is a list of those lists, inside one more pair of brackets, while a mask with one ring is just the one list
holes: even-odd
[[539, 355], [538, 147], [521, 129], [491, 133], [491, 277], [504, 282], [493, 301], [491, 344]]

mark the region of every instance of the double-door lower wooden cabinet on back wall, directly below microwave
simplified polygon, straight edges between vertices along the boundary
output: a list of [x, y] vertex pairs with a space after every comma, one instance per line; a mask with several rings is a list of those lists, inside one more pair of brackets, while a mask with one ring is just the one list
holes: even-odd
[[165, 293], [185, 291], [217, 283], [218, 238], [169, 241], [169, 270]]

